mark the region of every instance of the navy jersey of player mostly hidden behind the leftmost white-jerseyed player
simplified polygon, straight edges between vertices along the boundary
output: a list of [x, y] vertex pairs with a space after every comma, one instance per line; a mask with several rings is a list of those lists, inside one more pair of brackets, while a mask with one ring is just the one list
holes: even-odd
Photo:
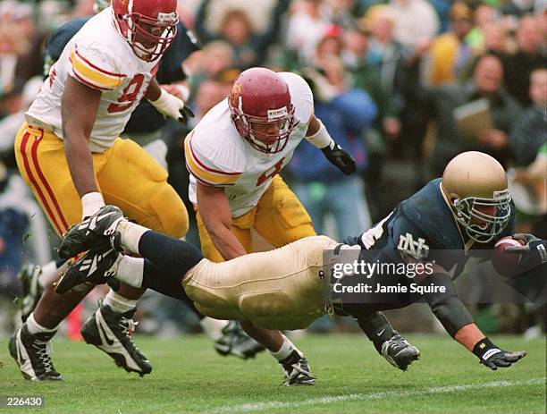
[[[64, 46], [66, 46], [72, 36], [74, 36], [90, 18], [91, 16], [80, 17], [72, 19], [72, 21], [67, 21], [47, 39], [46, 76], [53, 63], [55, 63], [63, 53]], [[173, 41], [173, 44], [167, 49], [165, 55], [162, 56], [156, 73], [156, 80], [160, 84], [186, 79], [186, 75], [182, 71], [182, 62], [192, 52], [201, 48], [196, 37], [191, 31], [186, 29], [181, 22], [179, 22], [177, 29], [177, 37]], [[130, 121], [125, 126], [123, 132], [127, 134], [130, 134], [131, 132], [153, 132], [163, 127], [165, 123], [166, 120], [164, 115], [160, 114], [146, 99], [143, 99], [139, 103], [139, 106], [135, 108], [133, 114], [131, 114]]]

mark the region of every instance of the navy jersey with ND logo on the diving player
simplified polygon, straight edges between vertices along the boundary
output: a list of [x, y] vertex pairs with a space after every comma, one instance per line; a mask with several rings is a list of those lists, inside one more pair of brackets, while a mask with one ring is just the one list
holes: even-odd
[[[449, 205], [442, 197], [441, 179], [428, 182], [409, 199], [402, 201], [391, 215], [359, 237], [347, 240], [373, 249], [374, 258], [403, 261], [405, 256], [434, 261], [445, 270], [459, 275], [471, 251], [464, 254], [464, 241]], [[511, 217], [497, 240], [512, 235], [515, 230], [515, 207], [511, 202]], [[491, 249], [493, 243], [477, 243], [474, 249]], [[370, 259], [370, 251], [365, 254]], [[456, 266], [456, 267], [455, 267]]]

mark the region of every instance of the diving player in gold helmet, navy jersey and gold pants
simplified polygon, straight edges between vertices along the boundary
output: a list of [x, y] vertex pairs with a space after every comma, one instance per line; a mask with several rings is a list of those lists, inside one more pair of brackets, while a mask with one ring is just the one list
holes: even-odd
[[[468, 251], [512, 235], [514, 224], [515, 208], [505, 171], [491, 156], [467, 152], [450, 161], [442, 178], [427, 183], [371, 231], [349, 238], [347, 243], [361, 251], [395, 252], [401, 262], [406, 262], [408, 252], [400, 248], [400, 240], [408, 234], [415, 240], [424, 239], [431, 249]], [[545, 266], [547, 242], [533, 235], [518, 237], [525, 241], [516, 248], [522, 259]], [[344, 246], [315, 236], [281, 249], [213, 263], [189, 243], [132, 224], [117, 207], [107, 206], [66, 234], [60, 254], [72, 257], [80, 251], [88, 252], [62, 275], [56, 290], [62, 293], [80, 283], [105, 283], [114, 277], [181, 300], [188, 296], [210, 317], [249, 320], [268, 329], [301, 329], [332, 307], [324, 301], [321, 275], [328, 264], [323, 263], [323, 255], [324, 250]], [[123, 256], [122, 247], [141, 258]], [[91, 269], [91, 262], [98, 270]], [[450, 256], [436, 258], [434, 273], [420, 281], [445, 287], [424, 295], [434, 316], [488, 368], [509, 367], [526, 356], [525, 351], [503, 351], [479, 330], [453, 289], [446, 270], [453, 265]], [[137, 273], [135, 268], [141, 271]], [[457, 266], [456, 272], [462, 268]], [[400, 283], [408, 280], [400, 275]], [[387, 331], [392, 328], [387, 321], [371, 326], [371, 316], [385, 308], [406, 307], [417, 299], [419, 296], [414, 295], [397, 304], [341, 303], [334, 308], [339, 314], [355, 317], [365, 332], [374, 329], [369, 334], [378, 337], [374, 345], [378, 348], [379, 344], [383, 351], [385, 338], [391, 335]]]

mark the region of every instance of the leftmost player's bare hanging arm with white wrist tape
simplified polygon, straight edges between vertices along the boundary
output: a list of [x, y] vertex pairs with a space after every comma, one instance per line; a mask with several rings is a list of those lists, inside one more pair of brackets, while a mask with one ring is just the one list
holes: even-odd
[[93, 130], [101, 92], [69, 76], [61, 98], [64, 153], [74, 187], [82, 198], [82, 217], [94, 214], [105, 205], [98, 191], [89, 137]]

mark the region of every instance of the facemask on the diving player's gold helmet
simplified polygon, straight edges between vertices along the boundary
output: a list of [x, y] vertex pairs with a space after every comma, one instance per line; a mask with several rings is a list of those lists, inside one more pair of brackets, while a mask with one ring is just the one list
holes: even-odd
[[[499, 235], [509, 222], [510, 201], [509, 190], [502, 190], [494, 191], [493, 199], [467, 197], [455, 199], [453, 205], [458, 221], [466, 229], [467, 236], [479, 243], [487, 243]], [[484, 213], [480, 207], [495, 207], [495, 215]], [[478, 223], [473, 223], [474, 219]]]

